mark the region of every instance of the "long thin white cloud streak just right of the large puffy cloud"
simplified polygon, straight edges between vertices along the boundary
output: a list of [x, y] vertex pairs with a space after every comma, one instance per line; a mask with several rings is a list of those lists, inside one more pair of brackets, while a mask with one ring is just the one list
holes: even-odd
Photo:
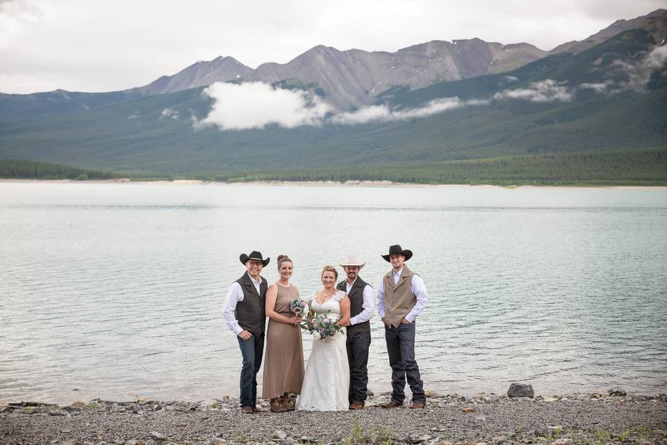
[[408, 120], [414, 118], [427, 118], [443, 111], [462, 108], [471, 105], [486, 105], [487, 100], [462, 101], [458, 97], [443, 97], [431, 100], [420, 108], [408, 108], [404, 110], [392, 110], [386, 105], [365, 106], [357, 111], [349, 111], [332, 116], [329, 121], [333, 124], [355, 125], [368, 122], [390, 122], [394, 120]]

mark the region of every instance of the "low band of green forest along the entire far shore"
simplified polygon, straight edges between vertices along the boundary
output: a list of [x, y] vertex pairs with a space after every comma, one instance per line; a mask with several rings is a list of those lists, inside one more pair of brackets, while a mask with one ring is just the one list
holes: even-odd
[[0, 177], [25, 179], [201, 179], [249, 181], [392, 181], [416, 184], [667, 186], [667, 147], [571, 154], [505, 156], [343, 168], [226, 171], [188, 175], [83, 170], [33, 161], [1, 161]]

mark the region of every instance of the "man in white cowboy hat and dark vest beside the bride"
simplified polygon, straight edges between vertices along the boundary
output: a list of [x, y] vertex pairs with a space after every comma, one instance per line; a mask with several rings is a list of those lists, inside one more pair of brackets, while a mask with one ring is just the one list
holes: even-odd
[[368, 391], [368, 348], [370, 348], [370, 318], [375, 312], [375, 293], [359, 277], [365, 266], [356, 255], [347, 255], [340, 267], [347, 279], [336, 286], [349, 298], [349, 326], [347, 327], [347, 362], [349, 363], [349, 409], [361, 410]]

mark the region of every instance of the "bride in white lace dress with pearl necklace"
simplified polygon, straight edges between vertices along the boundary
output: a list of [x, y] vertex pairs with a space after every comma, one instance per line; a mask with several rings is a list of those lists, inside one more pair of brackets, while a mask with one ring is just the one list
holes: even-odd
[[311, 300], [312, 313], [329, 314], [343, 326], [332, 337], [320, 339], [313, 334], [311, 356], [308, 357], [304, 384], [297, 397], [297, 410], [302, 411], [347, 411], [349, 401], [349, 364], [347, 364], [347, 332], [349, 323], [349, 298], [343, 291], [334, 288], [338, 272], [334, 266], [322, 269], [324, 289]]

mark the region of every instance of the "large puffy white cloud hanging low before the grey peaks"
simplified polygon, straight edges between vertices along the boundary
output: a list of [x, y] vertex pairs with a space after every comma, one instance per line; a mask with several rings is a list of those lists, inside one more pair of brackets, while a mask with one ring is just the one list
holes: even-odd
[[213, 98], [211, 112], [195, 127], [217, 126], [221, 130], [262, 129], [269, 124], [285, 128], [318, 126], [331, 106], [301, 90], [283, 90], [262, 82], [217, 82], [204, 89]]

